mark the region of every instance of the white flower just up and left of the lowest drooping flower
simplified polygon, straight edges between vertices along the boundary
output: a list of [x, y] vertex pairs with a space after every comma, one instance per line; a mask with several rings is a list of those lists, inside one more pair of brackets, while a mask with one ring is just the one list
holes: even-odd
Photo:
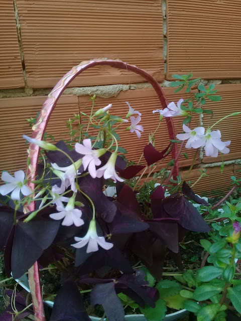
[[75, 197], [72, 196], [69, 199], [68, 204], [64, 208], [63, 206], [57, 206], [58, 213], [50, 214], [49, 216], [53, 220], [63, 220], [62, 225], [70, 226], [74, 224], [75, 226], [81, 226], [84, 221], [81, 219], [82, 211], [74, 208]]

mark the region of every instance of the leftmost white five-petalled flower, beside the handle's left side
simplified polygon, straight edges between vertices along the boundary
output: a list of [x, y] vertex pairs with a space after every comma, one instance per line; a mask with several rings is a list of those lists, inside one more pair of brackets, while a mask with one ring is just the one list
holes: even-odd
[[1, 179], [8, 184], [0, 187], [0, 194], [7, 195], [12, 192], [12, 200], [20, 200], [20, 191], [24, 196], [31, 194], [31, 190], [26, 185], [24, 185], [24, 171], [15, 172], [14, 177], [8, 172], [3, 172]]

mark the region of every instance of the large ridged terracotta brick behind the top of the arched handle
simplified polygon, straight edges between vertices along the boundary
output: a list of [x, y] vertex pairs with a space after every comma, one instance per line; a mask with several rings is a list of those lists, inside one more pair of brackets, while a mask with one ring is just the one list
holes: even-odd
[[[81, 61], [103, 57], [164, 79], [160, 0], [17, 0], [17, 5], [29, 86], [52, 87]], [[71, 86], [140, 81], [128, 71], [99, 66]]]

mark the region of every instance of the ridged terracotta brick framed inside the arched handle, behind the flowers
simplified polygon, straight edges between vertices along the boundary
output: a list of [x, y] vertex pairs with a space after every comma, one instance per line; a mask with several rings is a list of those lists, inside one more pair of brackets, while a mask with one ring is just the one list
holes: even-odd
[[[168, 98], [168, 101], [177, 101], [180, 97], [184, 99], [188, 97], [188, 94], [179, 92], [174, 94], [175, 88], [163, 88], [164, 92]], [[148, 143], [149, 132], [154, 132], [159, 124], [159, 114], [153, 114], [154, 109], [161, 109], [160, 102], [154, 91], [154, 89], [137, 89], [121, 92], [117, 97], [112, 97], [108, 99], [97, 97], [95, 100], [96, 106], [95, 109], [104, 107], [109, 103], [112, 103], [111, 114], [125, 117], [129, 107], [125, 103], [128, 101], [133, 108], [142, 113], [142, 121], [140, 124], [144, 127], [144, 133], [141, 138], [138, 138], [136, 133], [130, 133], [130, 131], [124, 131], [120, 133], [121, 137], [121, 146], [126, 148], [128, 151], [127, 158], [132, 161], [138, 161], [144, 146]], [[89, 112], [91, 107], [91, 100], [89, 97], [79, 97], [79, 107], [81, 111]], [[89, 108], [89, 109], [87, 109]], [[174, 124], [177, 132], [182, 131], [182, 119], [183, 117], [174, 117]], [[119, 128], [128, 127], [129, 124], [122, 124]], [[165, 119], [162, 120], [162, 124], [158, 131], [156, 132], [156, 145], [155, 147], [158, 150], [162, 150], [169, 144], [169, 136], [166, 126]], [[187, 152], [189, 158], [185, 159], [183, 155], [180, 157], [180, 166], [185, 167], [191, 164], [195, 150], [183, 149], [183, 152]], [[144, 158], [143, 158], [144, 159]], [[171, 160], [171, 157], [167, 157], [168, 161]], [[198, 160], [197, 160], [198, 162]], [[165, 163], [161, 163], [160, 167]]]

